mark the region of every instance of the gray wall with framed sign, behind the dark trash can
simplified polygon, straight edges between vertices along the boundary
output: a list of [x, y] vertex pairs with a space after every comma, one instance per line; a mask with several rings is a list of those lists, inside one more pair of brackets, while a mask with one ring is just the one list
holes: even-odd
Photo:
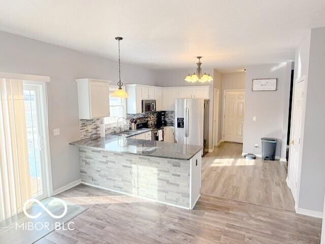
[[[247, 67], [243, 152], [261, 154], [261, 137], [276, 137], [279, 139], [276, 156], [285, 158], [290, 74], [291, 62]], [[277, 78], [277, 90], [252, 91], [252, 79], [260, 78]], [[255, 144], [259, 148], [254, 148]]]

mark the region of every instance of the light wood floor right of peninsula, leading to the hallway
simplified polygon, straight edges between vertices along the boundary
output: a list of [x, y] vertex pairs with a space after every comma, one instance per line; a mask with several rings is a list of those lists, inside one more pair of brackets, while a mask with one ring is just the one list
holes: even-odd
[[294, 211], [294, 198], [280, 161], [245, 159], [242, 144], [222, 143], [202, 161], [201, 192]]

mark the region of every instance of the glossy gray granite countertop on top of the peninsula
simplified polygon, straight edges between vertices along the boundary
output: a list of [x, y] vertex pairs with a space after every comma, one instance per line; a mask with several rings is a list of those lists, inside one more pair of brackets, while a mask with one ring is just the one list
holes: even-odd
[[141, 156], [189, 160], [196, 155], [201, 146], [183, 145], [159, 141], [147, 141], [127, 138], [119, 135], [106, 135], [96, 140], [85, 139], [70, 143], [79, 147], [87, 147], [109, 152], [129, 153]]

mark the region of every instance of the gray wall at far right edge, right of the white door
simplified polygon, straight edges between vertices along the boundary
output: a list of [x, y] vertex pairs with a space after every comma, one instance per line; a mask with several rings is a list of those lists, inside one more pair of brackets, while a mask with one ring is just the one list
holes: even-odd
[[308, 75], [308, 81], [298, 207], [322, 212], [325, 191], [325, 27], [311, 29], [297, 50], [296, 63], [299, 55], [303, 60], [302, 75]]

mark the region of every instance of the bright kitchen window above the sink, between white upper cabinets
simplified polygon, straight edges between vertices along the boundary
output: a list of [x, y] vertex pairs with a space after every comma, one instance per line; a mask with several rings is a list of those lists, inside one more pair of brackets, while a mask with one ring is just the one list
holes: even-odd
[[[125, 98], [111, 97], [116, 89], [118, 89], [117, 86], [110, 86], [110, 117], [104, 118], [107, 127], [116, 126], [117, 119], [126, 116]], [[122, 89], [125, 88], [122, 87]]]

